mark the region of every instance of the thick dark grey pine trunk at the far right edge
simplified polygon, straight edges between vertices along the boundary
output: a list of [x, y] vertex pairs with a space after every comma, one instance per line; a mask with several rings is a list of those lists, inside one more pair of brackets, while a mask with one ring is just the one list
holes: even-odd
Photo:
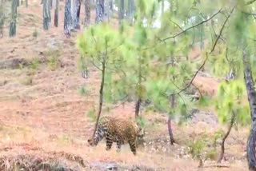
[[251, 130], [247, 143], [247, 161], [250, 170], [256, 170], [255, 142], [256, 142], [256, 91], [254, 89], [254, 81], [250, 68], [249, 58], [243, 51], [243, 72], [246, 83], [247, 96], [250, 104]]

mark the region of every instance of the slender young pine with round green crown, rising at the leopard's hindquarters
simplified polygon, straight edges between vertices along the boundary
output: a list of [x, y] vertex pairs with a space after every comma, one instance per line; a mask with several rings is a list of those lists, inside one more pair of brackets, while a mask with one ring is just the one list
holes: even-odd
[[102, 113], [106, 79], [111, 72], [108, 67], [111, 67], [113, 62], [118, 59], [117, 54], [121, 45], [122, 40], [119, 39], [118, 32], [104, 24], [88, 28], [84, 34], [78, 38], [78, 50], [82, 55], [81, 60], [87, 65], [94, 66], [101, 73], [98, 114], [92, 137], [94, 137], [98, 127], [98, 119]]

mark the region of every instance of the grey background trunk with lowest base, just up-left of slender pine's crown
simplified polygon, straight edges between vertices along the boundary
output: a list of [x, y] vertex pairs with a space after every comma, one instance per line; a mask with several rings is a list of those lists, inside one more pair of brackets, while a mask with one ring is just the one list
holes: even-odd
[[64, 34], [70, 36], [71, 30], [71, 2], [66, 0], [65, 4], [65, 14], [64, 14]]

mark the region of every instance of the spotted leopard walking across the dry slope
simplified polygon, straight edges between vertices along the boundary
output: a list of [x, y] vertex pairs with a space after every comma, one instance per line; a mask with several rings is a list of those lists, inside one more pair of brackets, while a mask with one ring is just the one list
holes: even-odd
[[110, 150], [113, 142], [117, 143], [117, 152], [121, 146], [128, 143], [130, 150], [136, 155], [136, 141], [144, 137], [144, 129], [134, 121], [126, 121], [115, 117], [104, 116], [98, 121], [95, 136], [88, 139], [90, 146], [97, 146], [106, 137], [106, 150]]

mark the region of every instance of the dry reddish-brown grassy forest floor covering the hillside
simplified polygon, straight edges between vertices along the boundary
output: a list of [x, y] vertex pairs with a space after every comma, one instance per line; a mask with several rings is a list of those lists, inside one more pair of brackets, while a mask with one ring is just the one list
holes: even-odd
[[[231, 131], [222, 163], [226, 167], [215, 167], [218, 143], [214, 149], [217, 154], [213, 153], [211, 159], [205, 161], [205, 167], [198, 168], [199, 161], [189, 153], [188, 145], [195, 140], [202, 137], [207, 140], [206, 144], [211, 144], [216, 131], [226, 130], [218, 124], [214, 109], [202, 109], [182, 125], [173, 121], [175, 145], [170, 145], [167, 115], [143, 110], [146, 137], [138, 147], [137, 156], [130, 152], [128, 145], [122, 147], [121, 153], [115, 152], [115, 146], [106, 151], [103, 141], [89, 147], [86, 142], [94, 121], [87, 113], [98, 105], [99, 74], [92, 68], [86, 80], [78, 70], [75, 41], [82, 31], [72, 32], [71, 38], [63, 35], [63, 2], [59, 11], [60, 26], [42, 30], [42, 5], [35, 0], [29, 2], [29, 8], [18, 7], [17, 36], [9, 38], [6, 27], [0, 39], [1, 169], [10, 170], [23, 164], [32, 170], [50, 170], [50, 167], [106, 170], [113, 166], [118, 170], [247, 170], [245, 152], [249, 128]], [[84, 7], [82, 20], [83, 10]], [[91, 21], [94, 22], [93, 12]], [[190, 55], [198, 53], [195, 50]], [[6, 62], [17, 58], [32, 62], [32, 66], [7, 65]], [[201, 85], [202, 93], [210, 96], [216, 93], [218, 83], [216, 78], [204, 75], [194, 80], [195, 85]], [[83, 95], [79, 93], [82, 87], [86, 89]], [[105, 105], [103, 115], [133, 118], [134, 103]]]

